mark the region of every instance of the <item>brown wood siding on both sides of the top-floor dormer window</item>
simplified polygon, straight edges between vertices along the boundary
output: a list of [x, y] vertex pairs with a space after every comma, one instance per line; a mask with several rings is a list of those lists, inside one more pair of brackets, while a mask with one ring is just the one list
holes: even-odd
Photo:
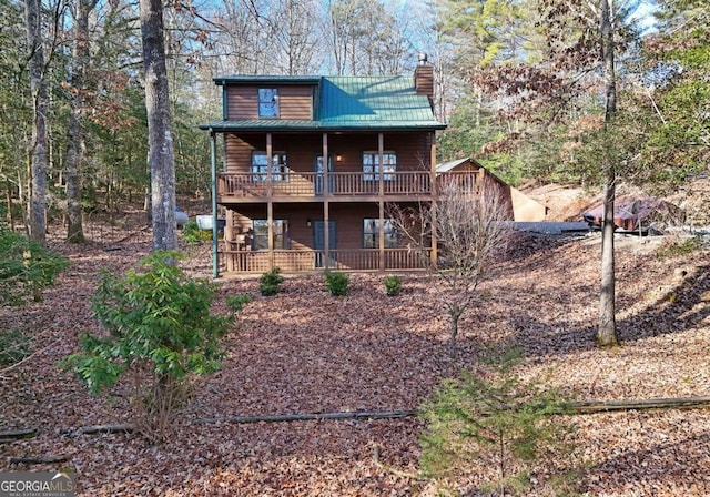
[[[258, 89], [262, 87], [226, 87], [226, 119], [248, 120], [258, 116]], [[265, 88], [265, 87], [263, 87]], [[278, 89], [278, 118], [312, 120], [313, 87], [286, 85]]]

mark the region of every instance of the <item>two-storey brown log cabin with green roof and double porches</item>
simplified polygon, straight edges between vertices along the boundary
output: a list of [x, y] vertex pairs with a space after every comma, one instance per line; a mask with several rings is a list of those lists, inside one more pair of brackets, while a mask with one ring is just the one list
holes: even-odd
[[[216, 78], [210, 132], [213, 268], [226, 273], [424, 268], [386, 205], [430, 203], [436, 183], [433, 67], [414, 77]], [[223, 164], [217, 170], [217, 142]], [[468, 173], [466, 173], [468, 174]], [[468, 174], [469, 175], [469, 174]], [[436, 258], [436, 241], [430, 257]]]

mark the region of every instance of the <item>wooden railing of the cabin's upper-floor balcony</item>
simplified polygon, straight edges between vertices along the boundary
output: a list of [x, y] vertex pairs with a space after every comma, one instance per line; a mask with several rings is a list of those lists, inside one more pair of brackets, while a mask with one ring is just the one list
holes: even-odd
[[[425, 195], [432, 193], [430, 174], [425, 171], [397, 171], [385, 173], [384, 195]], [[263, 174], [221, 173], [217, 175], [217, 196], [264, 197], [268, 195], [378, 195], [377, 174], [348, 172], [321, 173], [295, 172], [274, 174], [271, 182]]]

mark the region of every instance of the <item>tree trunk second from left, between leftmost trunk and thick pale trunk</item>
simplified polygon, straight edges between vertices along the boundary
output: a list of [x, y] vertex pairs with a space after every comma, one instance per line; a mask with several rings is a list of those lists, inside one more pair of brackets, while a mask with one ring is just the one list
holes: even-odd
[[83, 128], [81, 114], [84, 106], [84, 72], [89, 60], [89, 12], [95, 0], [74, 0], [74, 49], [71, 64], [70, 116], [67, 145], [67, 240], [84, 242], [81, 209], [81, 175]]

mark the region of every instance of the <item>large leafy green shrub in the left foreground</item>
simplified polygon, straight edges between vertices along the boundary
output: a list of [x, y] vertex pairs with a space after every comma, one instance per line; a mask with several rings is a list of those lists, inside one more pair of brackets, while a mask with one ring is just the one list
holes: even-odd
[[216, 285], [185, 276], [176, 266], [180, 257], [156, 251], [142, 261], [141, 272], [104, 273], [92, 311], [108, 336], [83, 334], [81, 352], [60, 363], [92, 394], [131, 375], [138, 427], [151, 442], [168, 437], [191, 375], [219, 368], [220, 339], [233, 321], [211, 313]]

